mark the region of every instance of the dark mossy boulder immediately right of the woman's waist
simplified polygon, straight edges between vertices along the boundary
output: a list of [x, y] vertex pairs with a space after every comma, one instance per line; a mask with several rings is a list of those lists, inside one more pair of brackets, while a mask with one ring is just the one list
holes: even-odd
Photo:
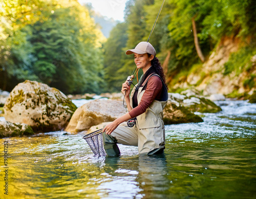
[[174, 102], [168, 101], [163, 110], [163, 122], [167, 124], [180, 124], [190, 122], [203, 122], [203, 119], [199, 116], [191, 113], [184, 106], [177, 106]]

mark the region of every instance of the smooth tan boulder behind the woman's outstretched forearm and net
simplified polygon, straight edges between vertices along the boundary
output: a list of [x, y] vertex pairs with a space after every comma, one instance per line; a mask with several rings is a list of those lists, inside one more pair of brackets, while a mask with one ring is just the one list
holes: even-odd
[[126, 113], [121, 101], [93, 100], [76, 109], [65, 130], [68, 132], [88, 130], [91, 126], [102, 122], [112, 122]]

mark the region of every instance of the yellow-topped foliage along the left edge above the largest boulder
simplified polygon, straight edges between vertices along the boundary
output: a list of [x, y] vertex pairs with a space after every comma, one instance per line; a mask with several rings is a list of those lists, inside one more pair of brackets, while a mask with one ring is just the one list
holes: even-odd
[[24, 78], [38, 80], [31, 72], [34, 57], [26, 38], [27, 26], [39, 19], [42, 5], [43, 2], [36, 0], [0, 2], [0, 87], [4, 90], [11, 90]]

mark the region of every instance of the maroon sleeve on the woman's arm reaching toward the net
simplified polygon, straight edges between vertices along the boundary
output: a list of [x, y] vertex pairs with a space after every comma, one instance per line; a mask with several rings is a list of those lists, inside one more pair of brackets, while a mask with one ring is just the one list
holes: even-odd
[[161, 100], [162, 80], [158, 76], [153, 76], [148, 79], [146, 90], [141, 98], [138, 106], [133, 108], [129, 114], [132, 118], [135, 118], [143, 113], [154, 100]]

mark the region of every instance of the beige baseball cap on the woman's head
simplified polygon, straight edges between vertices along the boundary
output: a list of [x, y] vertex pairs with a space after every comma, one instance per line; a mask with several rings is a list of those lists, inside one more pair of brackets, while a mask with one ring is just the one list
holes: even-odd
[[156, 50], [154, 49], [154, 47], [151, 45], [150, 42], [146, 42], [146, 41], [141, 41], [139, 42], [139, 44], [135, 47], [135, 49], [131, 49], [131, 50], [127, 50], [126, 51], [126, 55], [131, 55], [133, 53], [137, 53], [137, 54], [145, 54], [145, 53], [149, 53], [151, 55], [154, 55], [154, 57], [156, 56]]

